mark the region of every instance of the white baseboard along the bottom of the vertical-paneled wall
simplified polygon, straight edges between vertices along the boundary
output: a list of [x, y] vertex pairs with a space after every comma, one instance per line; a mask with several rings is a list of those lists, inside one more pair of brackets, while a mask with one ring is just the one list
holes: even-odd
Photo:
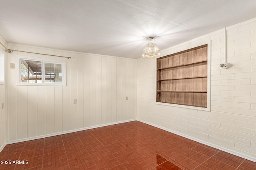
[[[78, 132], [78, 131], [84, 131], [84, 130], [88, 130], [88, 129], [94, 129], [94, 128], [97, 128], [97, 127], [104, 127], [104, 126], [109, 126], [109, 125], [116, 125], [116, 124], [119, 124], [119, 123], [126, 123], [126, 122], [130, 122], [130, 121], [136, 121], [136, 119], [130, 119], [130, 120], [125, 120], [125, 121], [118, 121], [118, 122], [113, 122], [113, 123], [106, 123], [106, 124], [102, 124], [102, 125], [84, 127], [84, 128], [74, 129], [74, 130], [70, 130], [70, 131], [64, 131], [64, 132], [59, 132], [59, 133], [52, 133], [52, 134], [48, 134], [48, 135], [41, 135], [41, 136], [37, 136], [37, 137], [30, 137], [30, 138], [25, 138], [25, 139], [18, 139], [18, 140], [14, 140], [14, 141], [8, 141], [8, 142], [6, 142], [6, 145], [12, 144], [12, 143], [24, 142], [24, 141], [31, 141], [31, 140], [35, 140], [35, 139], [42, 139], [42, 138], [45, 138], [45, 137], [52, 137], [52, 136], [57, 136], [57, 135], [64, 135], [64, 134], [67, 134], [67, 133]], [[4, 145], [4, 146], [5, 146], [5, 145]], [[1, 148], [2, 148], [2, 147], [1, 147]], [[1, 150], [0, 150], [0, 151], [1, 151]]]

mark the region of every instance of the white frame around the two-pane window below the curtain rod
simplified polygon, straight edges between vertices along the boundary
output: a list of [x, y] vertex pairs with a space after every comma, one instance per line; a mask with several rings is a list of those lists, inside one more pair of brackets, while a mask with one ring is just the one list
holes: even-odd
[[[62, 65], [62, 82], [42, 82], [42, 83], [22, 83], [20, 82], [20, 59], [24, 60], [32, 60], [32, 61], [41, 61], [43, 63], [54, 63], [54, 64], [61, 64]], [[42, 65], [44, 70], [44, 64]], [[47, 58], [39, 58], [39, 57], [28, 57], [28, 56], [21, 56], [17, 55], [16, 61], [16, 68], [17, 68], [17, 85], [22, 86], [66, 86], [66, 61], [64, 60], [57, 60], [57, 59], [47, 59]], [[42, 80], [44, 80], [44, 71], [42, 72]]]

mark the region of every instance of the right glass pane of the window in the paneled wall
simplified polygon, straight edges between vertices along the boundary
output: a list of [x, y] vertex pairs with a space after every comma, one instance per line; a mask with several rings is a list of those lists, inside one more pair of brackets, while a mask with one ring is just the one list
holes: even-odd
[[44, 82], [62, 82], [62, 64], [44, 63]]

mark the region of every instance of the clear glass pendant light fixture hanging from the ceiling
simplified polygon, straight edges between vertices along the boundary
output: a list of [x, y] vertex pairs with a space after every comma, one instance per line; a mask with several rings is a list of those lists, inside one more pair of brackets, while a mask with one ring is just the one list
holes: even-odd
[[160, 56], [160, 49], [156, 46], [156, 44], [152, 43], [152, 39], [154, 37], [148, 37], [150, 39], [150, 43], [146, 45], [144, 50], [141, 52], [142, 57], [144, 58], [154, 58]]

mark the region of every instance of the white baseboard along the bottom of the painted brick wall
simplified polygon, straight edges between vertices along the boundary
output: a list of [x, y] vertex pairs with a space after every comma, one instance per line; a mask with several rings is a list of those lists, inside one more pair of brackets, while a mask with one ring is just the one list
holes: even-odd
[[159, 125], [155, 125], [155, 124], [153, 124], [153, 123], [149, 123], [149, 122], [144, 121], [144, 120], [141, 120], [141, 119], [137, 119], [137, 121], [140, 121], [140, 122], [142, 122], [142, 123], [146, 123], [146, 124], [148, 124], [148, 125], [157, 127], [157, 128], [159, 128], [159, 129], [162, 129], [162, 130], [164, 130], [164, 131], [168, 131], [168, 132], [170, 132], [170, 133], [174, 133], [174, 134], [176, 134], [176, 135], [185, 137], [185, 138], [187, 138], [187, 139], [191, 139], [192, 141], [196, 141], [196, 142], [202, 143], [202, 144], [207, 145], [207, 146], [209, 146], [209, 147], [213, 147], [213, 148], [222, 150], [222, 151], [224, 151], [224, 152], [228, 152], [228, 153], [230, 153], [230, 154], [234, 154], [234, 155], [239, 156], [239, 157], [241, 157], [241, 158], [245, 158], [245, 159], [251, 160], [251, 161], [253, 161], [253, 162], [256, 162], [256, 158], [252, 158], [252, 157], [247, 156], [247, 155], [245, 155], [245, 154], [241, 154], [241, 153], [239, 153], [239, 152], [235, 152], [235, 151], [233, 151], [233, 150], [229, 150], [229, 149], [220, 147], [220, 146], [218, 146], [218, 145], [214, 145], [214, 144], [212, 144], [212, 143], [208, 143], [208, 142], [206, 142], [206, 141], [202, 141], [202, 140], [200, 140], [200, 139], [196, 139], [196, 138], [194, 138], [194, 137], [190, 137], [190, 136], [188, 136], [188, 135], [184, 135], [184, 134], [182, 134], [182, 133], [178, 133], [178, 132], [176, 132], [176, 131], [172, 131], [172, 130], [170, 130], [170, 129], [161, 127], [161, 126], [159, 126]]

